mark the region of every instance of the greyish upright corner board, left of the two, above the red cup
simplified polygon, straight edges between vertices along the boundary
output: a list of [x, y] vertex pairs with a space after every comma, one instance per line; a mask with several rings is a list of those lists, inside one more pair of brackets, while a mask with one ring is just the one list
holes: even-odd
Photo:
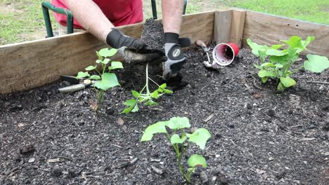
[[232, 10], [216, 11], [214, 17], [215, 43], [228, 43], [230, 41]]

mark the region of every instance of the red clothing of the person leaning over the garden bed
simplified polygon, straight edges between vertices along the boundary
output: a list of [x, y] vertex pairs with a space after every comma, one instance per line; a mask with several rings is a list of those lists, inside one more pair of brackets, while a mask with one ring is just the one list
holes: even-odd
[[[143, 21], [143, 5], [141, 0], [93, 0], [113, 25], [129, 25]], [[77, 1], [78, 3], [78, 1]], [[51, 4], [58, 8], [67, 8], [64, 0], [52, 0]], [[68, 8], [67, 8], [68, 9]], [[53, 13], [60, 25], [66, 26], [66, 15]], [[73, 15], [74, 17], [75, 15]], [[83, 28], [73, 20], [73, 27]]]

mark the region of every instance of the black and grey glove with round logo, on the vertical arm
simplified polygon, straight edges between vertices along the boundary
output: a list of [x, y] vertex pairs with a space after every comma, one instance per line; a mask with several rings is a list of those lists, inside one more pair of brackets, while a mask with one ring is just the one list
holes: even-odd
[[179, 34], [164, 33], [164, 51], [167, 61], [163, 64], [164, 80], [174, 78], [181, 71], [181, 67], [186, 61], [181, 47], [191, 46], [191, 40], [188, 38], [180, 38]]

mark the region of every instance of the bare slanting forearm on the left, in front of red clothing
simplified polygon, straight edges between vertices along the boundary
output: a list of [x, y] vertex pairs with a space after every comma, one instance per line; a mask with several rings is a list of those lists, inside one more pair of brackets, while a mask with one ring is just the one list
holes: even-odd
[[79, 0], [79, 2], [66, 0], [66, 4], [84, 29], [91, 32], [101, 41], [106, 42], [106, 36], [108, 36], [114, 25], [106, 18], [101, 8], [92, 0]]

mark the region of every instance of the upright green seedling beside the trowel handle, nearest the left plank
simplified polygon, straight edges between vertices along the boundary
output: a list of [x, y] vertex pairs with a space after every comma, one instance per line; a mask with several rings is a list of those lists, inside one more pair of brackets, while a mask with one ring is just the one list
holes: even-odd
[[[117, 81], [117, 76], [111, 73], [112, 69], [123, 69], [122, 63], [117, 61], [112, 61], [108, 57], [112, 57], [117, 53], [117, 49], [103, 48], [96, 51], [98, 55], [98, 60], [96, 60], [95, 65], [86, 67], [86, 71], [80, 71], [77, 74], [77, 78], [89, 78], [93, 83], [93, 89], [96, 92], [96, 104], [94, 104], [93, 110], [97, 111], [104, 100], [104, 93], [106, 90], [120, 85]], [[110, 65], [109, 65], [110, 64]], [[91, 71], [96, 71], [96, 74], [89, 74]]]

